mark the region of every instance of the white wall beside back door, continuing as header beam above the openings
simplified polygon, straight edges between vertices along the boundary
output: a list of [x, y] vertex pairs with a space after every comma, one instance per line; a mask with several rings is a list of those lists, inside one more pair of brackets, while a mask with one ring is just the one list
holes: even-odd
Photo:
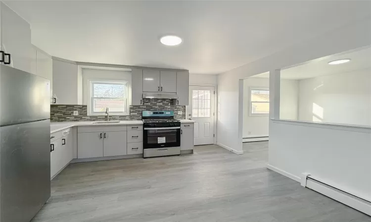
[[[358, 21], [315, 37], [308, 41], [293, 45], [265, 58], [238, 67], [218, 75], [218, 96], [220, 97], [220, 118], [218, 119], [218, 143], [225, 147], [242, 151], [242, 133], [239, 138], [238, 129], [242, 129], [243, 120], [238, 119], [239, 79], [252, 75], [274, 71], [283, 67], [300, 64], [316, 58], [340, 53], [371, 45], [371, 19]], [[240, 104], [243, 107], [243, 104]]]

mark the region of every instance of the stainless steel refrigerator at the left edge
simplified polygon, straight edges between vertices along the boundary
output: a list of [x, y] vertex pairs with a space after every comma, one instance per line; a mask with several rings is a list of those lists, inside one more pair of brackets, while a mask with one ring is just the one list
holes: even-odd
[[0, 222], [29, 222], [50, 197], [50, 82], [0, 64]]

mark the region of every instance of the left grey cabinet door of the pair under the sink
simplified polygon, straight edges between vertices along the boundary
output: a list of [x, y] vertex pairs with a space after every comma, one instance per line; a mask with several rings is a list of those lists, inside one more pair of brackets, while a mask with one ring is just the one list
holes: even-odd
[[103, 156], [103, 133], [78, 133], [77, 158]]

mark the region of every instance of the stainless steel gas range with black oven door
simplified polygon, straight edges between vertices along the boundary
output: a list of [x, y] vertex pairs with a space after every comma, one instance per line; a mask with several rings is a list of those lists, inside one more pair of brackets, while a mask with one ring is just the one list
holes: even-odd
[[142, 111], [143, 157], [181, 154], [181, 122], [174, 111]]

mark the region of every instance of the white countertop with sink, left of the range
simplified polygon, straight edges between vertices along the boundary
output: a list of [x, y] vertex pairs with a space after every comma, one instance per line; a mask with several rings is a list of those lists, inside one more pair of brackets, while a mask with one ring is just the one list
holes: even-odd
[[[114, 120], [111, 120], [114, 121]], [[55, 133], [73, 126], [106, 126], [106, 125], [136, 125], [143, 124], [141, 120], [123, 120], [118, 123], [94, 123], [98, 121], [50, 122], [50, 133]]]

